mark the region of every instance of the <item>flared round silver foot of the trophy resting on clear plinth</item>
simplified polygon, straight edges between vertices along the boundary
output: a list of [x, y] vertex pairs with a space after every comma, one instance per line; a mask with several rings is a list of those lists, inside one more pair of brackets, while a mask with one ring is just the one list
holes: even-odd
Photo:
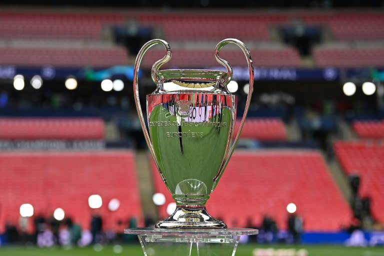
[[169, 217], [159, 220], [155, 228], [226, 228], [226, 224], [208, 214], [205, 207], [177, 206]]

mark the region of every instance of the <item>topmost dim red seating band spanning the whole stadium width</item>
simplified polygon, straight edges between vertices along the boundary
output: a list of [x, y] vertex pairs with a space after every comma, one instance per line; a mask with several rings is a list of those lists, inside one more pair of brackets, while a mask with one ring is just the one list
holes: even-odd
[[270, 27], [302, 20], [307, 24], [329, 27], [336, 40], [384, 39], [384, 18], [374, 11], [59, 11], [0, 10], [1, 38], [100, 39], [104, 25], [121, 24], [136, 19], [138, 23], [162, 30], [170, 40], [269, 40]]

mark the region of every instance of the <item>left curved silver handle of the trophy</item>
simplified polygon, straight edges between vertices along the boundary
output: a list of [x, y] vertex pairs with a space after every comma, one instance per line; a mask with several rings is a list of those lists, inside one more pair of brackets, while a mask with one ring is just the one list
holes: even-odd
[[166, 41], [161, 40], [161, 39], [153, 39], [153, 40], [150, 40], [150, 41], [146, 42], [141, 47], [141, 49], [138, 51], [138, 53], [137, 53], [136, 60], [134, 62], [134, 72], [133, 72], [133, 91], [134, 91], [133, 95], [134, 95], [134, 102], [136, 104], [137, 114], [138, 114], [138, 117], [139, 117], [139, 120], [140, 120], [142, 131], [144, 133], [146, 144], [148, 145], [149, 152], [152, 155], [152, 158], [153, 158], [153, 160], [154, 160], [154, 162], [155, 162], [155, 164], [157, 166], [157, 169], [161, 173], [161, 170], [159, 168], [158, 162], [157, 162], [155, 154], [154, 154], [152, 142], [150, 141], [149, 132], [146, 129], [146, 126], [145, 126], [144, 116], [142, 114], [140, 100], [139, 100], [139, 97], [138, 97], [138, 71], [139, 71], [139, 67], [140, 67], [140, 63], [141, 63], [142, 57], [144, 56], [145, 52], [150, 47], [152, 47], [153, 45], [158, 44], [158, 43], [164, 45], [164, 47], [166, 49], [166, 52], [165, 52], [165, 55], [161, 59], [157, 60], [152, 65], [152, 68], [151, 68], [151, 78], [152, 78], [152, 81], [157, 86], [159, 86], [159, 84], [160, 84], [160, 78], [156, 76], [156, 72], [157, 72], [158, 68], [162, 64], [164, 64], [164, 63], [169, 61], [169, 59], [170, 59], [170, 57], [172, 55], [172, 51], [170, 49], [169, 44]]

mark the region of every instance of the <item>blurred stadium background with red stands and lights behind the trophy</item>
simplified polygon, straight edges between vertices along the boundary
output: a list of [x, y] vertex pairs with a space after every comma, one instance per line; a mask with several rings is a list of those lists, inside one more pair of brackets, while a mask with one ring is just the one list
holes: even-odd
[[[252, 248], [380, 249], [383, 7], [382, 0], [1, 1], [0, 252], [136, 244], [123, 228], [170, 214], [175, 204], [134, 106], [134, 59], [142, 44], [162, 38], [172, 48], [163, 68], [222, 69], [214, 47], [228, 37], [251, 52], [254, 93], [208, 211], [230, 227], [259, 228], [242, 240]], [[142, 100], [163, 54], [155, 46], [143, 58]], [[220, 55], [232, 65], [228, 87], [241, 117], [246, 60], [230, 45]], [[265, 253], [253, 251], [274, 255]]]

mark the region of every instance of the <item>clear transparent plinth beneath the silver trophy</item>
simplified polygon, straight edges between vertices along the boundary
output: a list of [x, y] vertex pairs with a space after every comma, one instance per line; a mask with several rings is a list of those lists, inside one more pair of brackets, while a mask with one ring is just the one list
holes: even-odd
[[127, 228], [124, 233], [138, 236], [144, 256], [234, 256], [240, 236], [258, 230]]

